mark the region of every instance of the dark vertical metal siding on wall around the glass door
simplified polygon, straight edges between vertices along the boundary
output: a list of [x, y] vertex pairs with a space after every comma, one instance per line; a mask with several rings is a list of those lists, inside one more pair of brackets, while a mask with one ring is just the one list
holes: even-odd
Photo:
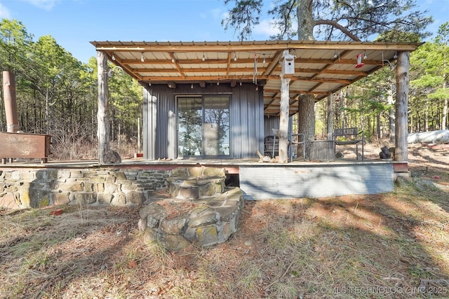
[[152, 85], [144, 90], [144, 158], [177, 158], [176, 95], [229, 94], [230, 142], [229, 158], [256, 158], [256, 149], [263, 152], [263, 91], [243, 83], [231, 88], [229, 84]]

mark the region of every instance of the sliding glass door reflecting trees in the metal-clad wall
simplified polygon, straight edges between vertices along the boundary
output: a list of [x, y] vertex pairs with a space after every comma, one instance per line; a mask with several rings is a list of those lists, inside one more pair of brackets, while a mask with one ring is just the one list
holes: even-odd
[[177, 97], [178, 157], [229, 156], [229, 96]]

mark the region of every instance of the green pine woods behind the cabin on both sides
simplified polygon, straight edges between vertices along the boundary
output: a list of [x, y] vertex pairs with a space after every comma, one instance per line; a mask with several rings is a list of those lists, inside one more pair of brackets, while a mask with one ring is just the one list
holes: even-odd
[[[449, 23], [441, 25], [434, 40], [410, 55], [409, 132], [446, 128], [448, 29]], [[382, 36], [387, 37], [391, 38], [391, 32]], [[68, 148], [96, 148], [97, 144], [96, 58], [91, 57], [84, 64], [51, 36], [33, 39], [21, 22], [6, 19], [0, 22], [0, 67], [2, 71], [15, 73], [20, 130], [51, 134], [55, 154], [59, 151], [60, 158], [80, 158], [81, 153], [76, 155], [76, 151]], [[391, 134], [389, 111], [394, 108], [391, 99], [394, 99], [396, 78], [394, 64], [390, 67], [334, 96], [335, 127], [360, 127], [371, 139]], [[126, 139], [123, 141], [136, 144], [142, 116], [142, 88], [122, 71], [114, 71], [109, 78], [109, 95], [111, 140]], [[326, 104], [326, 101], [316, 104], [317, 121], [326, 117]], [[0, 130], [6, 131], [3, 91]], [[318, 131], [316, 134], [326, 133]]]

